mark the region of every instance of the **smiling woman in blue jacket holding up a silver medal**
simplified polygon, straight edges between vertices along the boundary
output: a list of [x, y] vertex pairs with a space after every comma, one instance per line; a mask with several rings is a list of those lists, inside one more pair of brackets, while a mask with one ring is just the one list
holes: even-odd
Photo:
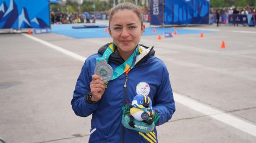
[[[153, 47], [138, 45], [144, 29], [141, 11], [134, 4], [113, 7], [109, 18], [113, 43], [103, 45], [82, 67], [71, 104], [76, 115], [93, 115], [90, 143], [157, 142], [155, 128], [150, 133], [141, 133], [121, 124], [123, 105], [131, 103], [137, 94], [152, 100], [152, 109], [160, 115], [155, 125], [166, 123], [175, 112], [166, 66], [154, 56]], [[103, 82], [108, 76], [94, 74], [100, 62], [108, 63], [114, 70], [108, 82]]]

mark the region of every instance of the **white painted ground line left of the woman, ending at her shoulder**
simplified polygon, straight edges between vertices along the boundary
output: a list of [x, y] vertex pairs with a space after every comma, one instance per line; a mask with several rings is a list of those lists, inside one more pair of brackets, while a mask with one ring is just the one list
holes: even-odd
[[78, 54], [76, 54], [76, 53], [74, 53], [74, 52], [70, 52], [70, 51], [68, 51], [68, 50], [66, 50], [66, 49], [64, 49], [64, 48], [61, 48], [61, 47], [57, 46], [57, 45], [53, 45], [53, 44], [51, 44], [51, 43], [49, 43], [49, 42], [47, 42], [47, 41], [38, 39], [38, 38], [36, 38], [36, 37], [34, 37], [34, 36], [31, 36], [31, 35], [28, 35], [28, 34], [24, 34], [24, 33], [22, 33], [22, 35], [24, 35], [24, 36], [26, 36], [26, 37], [28, 37], [28, 38], [30, 38], [30, 39], [33, 39], [33, 40], [35, 40], [35, 41], [37, 41], [37, 42], [40, 42], [40, 43], [43, 44], [43, 45], [47, 45], [48, 47], [53, 48], [53, 49], [55, 49], [55, 50], [57, 50], [57, 51], [59, 51], [59, 52], [62, 52], [62, 53], [64, 53], [64, 54], [70, 56], [70, 57], [73, 57], [73, 58], [75, 58], [75, 59], [81, 60], [81, 61], [83, 61], [83, 62], [86, 60], [86, 58], [83, 57], [83, 56], [80, 56], [80, 55], [78, 55]]

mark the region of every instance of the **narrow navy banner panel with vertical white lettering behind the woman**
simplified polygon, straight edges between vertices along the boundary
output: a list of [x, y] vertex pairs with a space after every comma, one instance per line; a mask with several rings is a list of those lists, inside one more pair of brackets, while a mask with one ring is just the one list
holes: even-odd
[[163, 24], [163, 0], [150, 1], [150, 24]]

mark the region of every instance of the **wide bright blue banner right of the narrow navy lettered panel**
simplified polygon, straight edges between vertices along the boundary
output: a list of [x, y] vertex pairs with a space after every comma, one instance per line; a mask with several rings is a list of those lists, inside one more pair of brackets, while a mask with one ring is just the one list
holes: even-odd
[[209, 0], [165, 0], [164, 24], [209, 24]]

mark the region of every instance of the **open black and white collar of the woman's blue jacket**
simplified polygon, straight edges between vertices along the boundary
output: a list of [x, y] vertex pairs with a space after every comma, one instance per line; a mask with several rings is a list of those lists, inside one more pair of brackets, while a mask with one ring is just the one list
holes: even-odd
[[[102, 55], [105, 52], [105, 50], [108, 48], [108, 45], [110, 44], [111, 43], [101, 46], [101, 48], [98, 50], [98, 53]], [[148, 57], [155, 55], [155, 50], [153, 49], [154, 48], [153, 46], [152, 47], [148, 47], [145, 45], [140, 45], [140, 46], [141, 46], [141, 54], [137, 56], [135, 66], [141, 65], [148, 59]], [[116, 50], [109, 56], [108, 61], [116, 63], [118, 65], [121, 65], [122, 63], [125, 62], [124, 59], [119, 55], [119, 53]]]

